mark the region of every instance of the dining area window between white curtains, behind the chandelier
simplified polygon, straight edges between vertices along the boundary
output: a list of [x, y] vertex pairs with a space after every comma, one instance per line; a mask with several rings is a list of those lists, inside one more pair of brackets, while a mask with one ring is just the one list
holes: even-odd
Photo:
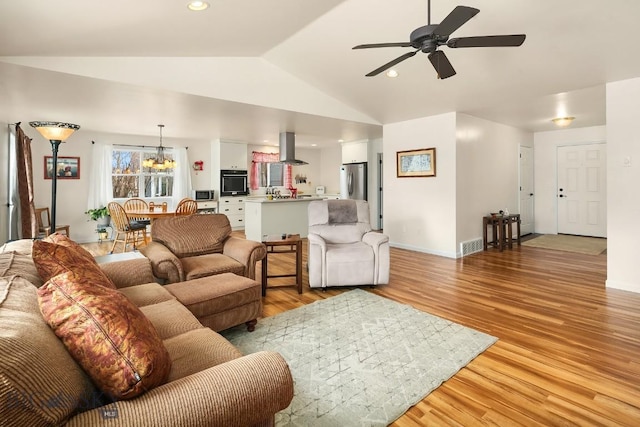
[[[173, 169], [141, 167], [142, 161], [156, 156], [155, 150], [114, 148], [111, 159], [111, 183], [114, 199], [131, 197], [161, 198], [173, 195]], [[171, 150], [165, 156], [172, 159]]]

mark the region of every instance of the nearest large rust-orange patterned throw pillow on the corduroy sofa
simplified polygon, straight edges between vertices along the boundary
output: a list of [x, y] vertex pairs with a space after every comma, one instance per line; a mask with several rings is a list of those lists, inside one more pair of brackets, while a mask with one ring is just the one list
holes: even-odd
[[38, 290], [40, 310], [102, 391], [130, 399], [164, 383], [171, 359], [151, 322], [124, 295], [68, 271]]

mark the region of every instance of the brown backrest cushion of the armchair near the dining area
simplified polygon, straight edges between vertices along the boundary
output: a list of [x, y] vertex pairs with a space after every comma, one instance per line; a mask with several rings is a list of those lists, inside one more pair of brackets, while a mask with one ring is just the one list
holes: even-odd
[[158, 218], [151, 225], [151, 239], [178, 258], [220, 253], [230, 235], [231, 224], [224, 214]]

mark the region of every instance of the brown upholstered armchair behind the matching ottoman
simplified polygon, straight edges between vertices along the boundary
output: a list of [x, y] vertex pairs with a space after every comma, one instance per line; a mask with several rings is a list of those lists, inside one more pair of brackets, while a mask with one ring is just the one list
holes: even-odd
[[255, 279], [256, 263], [266, 255], [262, 243], [232, 236], [224, 214], [158, 218], [151, 224], [151, 242], [140, 252], [166, 283], [220, 273]]

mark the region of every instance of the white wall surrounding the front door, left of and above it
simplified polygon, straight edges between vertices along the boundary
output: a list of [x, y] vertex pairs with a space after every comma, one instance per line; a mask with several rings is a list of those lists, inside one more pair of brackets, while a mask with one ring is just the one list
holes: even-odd
[[534, 212], [536, 233], [558, 234], [557, 149], [560, 146], [603, 143], [605, 126], [536, 132], [534, 139]]

